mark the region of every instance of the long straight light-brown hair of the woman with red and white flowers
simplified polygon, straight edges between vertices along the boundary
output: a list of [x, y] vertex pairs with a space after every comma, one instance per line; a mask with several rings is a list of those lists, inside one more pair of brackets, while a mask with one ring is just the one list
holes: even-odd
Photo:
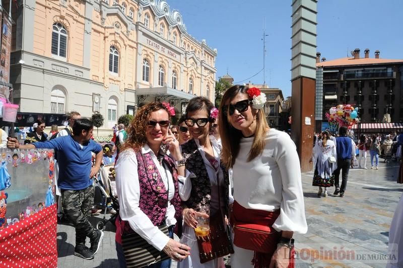
[[[226, 103], [230, 103], [231, 100], [235, 98], [238, 94], [247, 95], [247, 90], [249, 87], [243, 85], [234, 85], [224, 93], [224, 96], [220, 104], [220, 115], [219, 115], [219, 132], [221, 137], [221, 143], [223, 149], [221, 151], [221, 157], [223, 163], [227, 168], [232, 168], [235, 164], [235, 160], [238, 157], [240, 149], [240, 141], [242, 138], [242, 132], [234, 128], [228, 121], [228, 114], [223, 113], [223, 106]], [[248, 108], [249, 109], [249, 108]], [[250, 106], [250, 109], [253, 109]], [[256, 113], [256, 130], [254, 133], [252, 147], [250, 148], [248, 154], [248, 161], [253, 160], [255, 157], [259, 156], [264, 146], [266, 145], [266, 133], [270, 129], [267, 124], [266, 117], [262, 109], [257, 110]]]

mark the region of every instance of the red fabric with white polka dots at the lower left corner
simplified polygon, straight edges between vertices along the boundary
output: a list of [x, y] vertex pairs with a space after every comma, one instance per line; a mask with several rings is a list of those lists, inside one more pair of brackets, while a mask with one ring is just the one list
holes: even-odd
[[56, 267], [56, 205], [0, 230], [0, 267]]

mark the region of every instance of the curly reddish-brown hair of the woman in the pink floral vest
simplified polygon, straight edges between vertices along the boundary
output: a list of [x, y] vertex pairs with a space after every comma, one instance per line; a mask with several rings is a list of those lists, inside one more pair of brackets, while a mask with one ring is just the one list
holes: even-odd
[[153, 102], [139, 108], [136, 116], [131, 120], [128, 126], [127, 140], [123, 144], [122, 151], [127, 148], [139, 151], [141, 147], [147, 143], [146, 131], [151, 113], [161, 109], [167, 112], [168, 118], [171, 120], [168, 109], [162, 103]]

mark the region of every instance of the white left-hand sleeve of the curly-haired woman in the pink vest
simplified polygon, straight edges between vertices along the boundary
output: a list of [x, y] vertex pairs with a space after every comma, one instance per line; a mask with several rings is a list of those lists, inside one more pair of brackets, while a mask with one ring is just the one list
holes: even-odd
[[119, 200], [119, 215], [136, 233], [156, 249], [162, 250], [169, 241], [139, 207], [140, 183], [137, 158], [133, 150], [120, 153], [115, 165], [116, 192]]

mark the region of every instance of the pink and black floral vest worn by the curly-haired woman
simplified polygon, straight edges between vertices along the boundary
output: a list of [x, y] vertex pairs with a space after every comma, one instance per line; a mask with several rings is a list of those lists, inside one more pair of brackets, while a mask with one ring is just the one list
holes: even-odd
[[[142, 154], [141, 151], [136, 153], [138, 162], [138, 173], [140, 183], [140, 209], [150, 218], [155, 226], [164, 223], [165, 214], [168, 205], [168, 192], [153, 158], [149, 153]], [[175, 208], [175, 218], [182, 216], [181, 200], [178, 192], [178, 174], [175, 163], [168, 155], [165, 155], [163, 163], [168, 166], [168, 172], [171, 172], [175, 187], [175, 194], [171, 200], [171, 204]], [[132, 233], [133, 230], [126, 221], [120, 223], [123, 233]]]

